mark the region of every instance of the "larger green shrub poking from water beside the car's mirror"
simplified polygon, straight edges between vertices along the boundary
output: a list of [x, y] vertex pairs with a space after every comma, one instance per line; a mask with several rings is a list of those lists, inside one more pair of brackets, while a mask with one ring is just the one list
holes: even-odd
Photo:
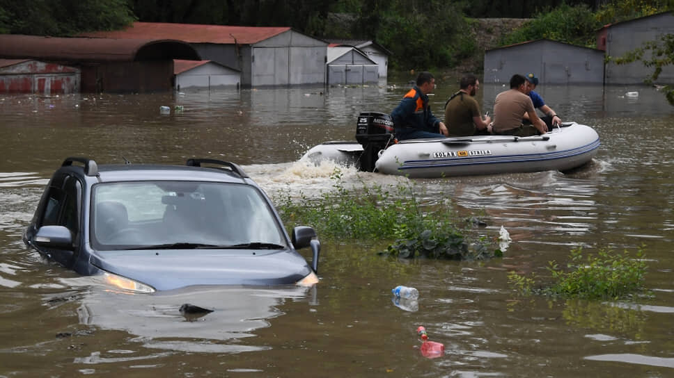
[[[501, 256], [487, 238], [467, 240], [467, 224], [457, 217], [451, 202], [424, 205], [411, 186], [386, 190], [362, 184], [350, 191], [336, 169], [334, 190], [318, 199], [302, 196], [293, 201], [282, 195], [276, 204], [286, 222], [309, 224], [322, 238], [348, 240], [395, 240], [384, 252], [401, 258], [430, 257], [478, 260]], [[289, 224], [287, 224], [289, 226]]]

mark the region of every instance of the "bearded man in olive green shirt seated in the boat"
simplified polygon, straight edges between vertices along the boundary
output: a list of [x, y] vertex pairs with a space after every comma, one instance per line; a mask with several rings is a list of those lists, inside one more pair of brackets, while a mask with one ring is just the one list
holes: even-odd
[[469, 136], [487, 133], [487, 126], [491, 122], [488, 116], [480, 116], [480, 106], [475, 94], [480, 88], [480, 81], [475, 75], [466, 75], [461, 78], [459, 92], [456, 92], [445, 104], [445, 125], [449, 136]]

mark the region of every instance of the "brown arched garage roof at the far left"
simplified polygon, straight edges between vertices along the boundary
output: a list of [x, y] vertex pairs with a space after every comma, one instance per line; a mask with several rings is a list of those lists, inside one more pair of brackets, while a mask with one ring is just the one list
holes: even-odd
[[0, 35], [0, 58], [38, 58], [77, 62], [201, 60], [193, 47], [178, 40], [52, 38], [16, 34]]

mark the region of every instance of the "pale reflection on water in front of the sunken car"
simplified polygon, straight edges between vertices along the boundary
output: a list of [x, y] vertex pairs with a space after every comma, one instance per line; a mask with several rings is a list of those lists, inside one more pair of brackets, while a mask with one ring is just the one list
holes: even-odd
[[[70, 279], [69, 286], [75, 280]], [[152, 295], [119, 293], [93, 285], [92, 279], [79, 279], [88, 289], [77, 302], [81, 324], [101, 329], [120, 329], [147, 338], [155, 347], [176, 345], [183, 352], [245, 352], [266, 347], [235, 345], [236, 339], [255, 336], [256, 329], [269, 327], [269, 320], [283, 313], [277, 309], [287, 300], [304, 299], [308, 288], [203, 287]], [[316, 290], [315, 288], [313, 290]], [[53, 299], [50, 299], [53, 300]], [[199, 318], [180, 313], [180, 306], [193, 304], [211, 309]], [[167, 338], [177, 338], [166, 342]], [[155, 339], [162, 339], [155, 345]], [[187, 342], [186, 339], [196, 340]], [[233, 344], [214, 347], [213, 341], [233, 340]], [[208, 344], [206, 347], [204, 343]], [[190, 350], [189, 346], [195, 350]]]

